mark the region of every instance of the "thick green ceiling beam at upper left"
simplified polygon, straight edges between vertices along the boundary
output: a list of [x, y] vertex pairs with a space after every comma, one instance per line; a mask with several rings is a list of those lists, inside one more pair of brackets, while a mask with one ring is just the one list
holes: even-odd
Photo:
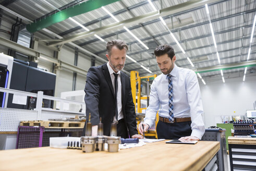
[[89, 11], [92, 11], [94, 9], [100, 8], [102, 6], [117, 2], [120, 0], [89, 0], [87, 2], [69, 7], [67, 9], [64, 9], [62, 11], [59, 11], [58, 13], [55, 13], [51, 16], [47, 16], [44, 19], [41, 19], [40, 21], [36, 21], [33, 23], [30, 23], [27, 25], [27, 30], [30, 33], [34, 33], [36, 31], [39, 31], [43, 28], [47, 28], [49, 26], [52, 26], [54, 23], [63, 21], [69, 17], [74, 17], [80, 14], [87, 13]]

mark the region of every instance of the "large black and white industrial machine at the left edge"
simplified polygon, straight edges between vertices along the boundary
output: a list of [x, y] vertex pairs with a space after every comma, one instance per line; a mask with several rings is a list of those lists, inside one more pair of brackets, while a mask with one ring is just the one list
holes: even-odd
[[[24, 62], [11, 56], [0, 54], [0, 87], [54, 96], [56, 75], [37, 68], [37, 63]], [[21, 97], [0, 93], [1, 107], [34, 109], [35, 97], [25, 97], [23, 103], [17, 103]], [[18, 99], [18, 100], [17, 100]], [[51, 100], [43, 100], [43, 107], [53, 108]]]

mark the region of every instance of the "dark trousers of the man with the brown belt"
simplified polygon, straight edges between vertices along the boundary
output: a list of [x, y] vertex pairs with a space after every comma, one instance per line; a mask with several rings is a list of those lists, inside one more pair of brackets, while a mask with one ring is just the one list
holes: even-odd
[[164, 123], [159, 121], [156, 126], [157, 138], [167, 140], [177, 140], [180, 137], [191, 135], [191, 121], [181, 123]]

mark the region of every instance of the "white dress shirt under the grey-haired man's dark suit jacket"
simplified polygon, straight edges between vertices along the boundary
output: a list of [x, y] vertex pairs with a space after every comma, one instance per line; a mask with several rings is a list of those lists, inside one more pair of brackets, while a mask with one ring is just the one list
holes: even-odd
[[[121, 88], [122, 88], [122, 84], [121, 84], [121, 72], [118, 71], [117, 73], [111, 68], [111, 66], [109, 65], [109, 62], [107, 62], [107, 68], [109, 71], [109, 75], [111, 77], [111, 81], [112, 81], [112, 85], [113, 85], [113, 89], [115, 92], [115, 74], [118, 74], [117, 76], [117, 84], [118, 84], [118, 90], [117, 90], [117, 112], [118, 112], [118, 120], [124, 118], [124, 114], [122, 111], [122, 93], [121, 93]], [[114, 120], [116, 121], [116, 117], [114, 116]]]

